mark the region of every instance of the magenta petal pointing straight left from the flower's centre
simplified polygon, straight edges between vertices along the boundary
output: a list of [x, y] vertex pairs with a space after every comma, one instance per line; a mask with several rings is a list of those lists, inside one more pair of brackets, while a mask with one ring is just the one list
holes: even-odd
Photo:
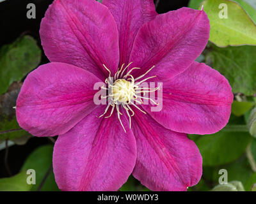
[[35, 136], [67, 132], [95, 107], [93, 85], [99, 78], [61, 62], [44, 64], [29, 73], [16, 105], [21, 128]]

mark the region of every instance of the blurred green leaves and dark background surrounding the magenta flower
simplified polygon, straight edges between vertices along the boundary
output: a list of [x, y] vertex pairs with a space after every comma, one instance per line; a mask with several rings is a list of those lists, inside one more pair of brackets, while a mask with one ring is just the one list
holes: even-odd
[[[0, 3], [0, 191], [59, 191], [52, 172], [54, 138], [36, 138], [20, 129], [15, 101], [26, 75], [48, 62], [38, 35], [49, 0]], [[200, 182], [188, 191], [256, 191], [256, 1], [154, 1], [158, 13], [182, 6], [202, 9], [210, 24], [210, 40], [197, 61], [220, 71], [232, 86], [234, 103], [227, 126], [213, 135], [189, 135], [203, 157]], [[36, 19], [26, 18], [26, 4], [36, 4]], [[220, 18], [227, 4], [228, 18]], [[14, 6], [15, 5], [15, 6]], [[6, 8], [10, 8], [6, 12]], [[10, 13], [15, 13], [11, 16]], [[6, 19], [6, 21], [3, 21]], [[36, 171], [29, 185], [27, 170]], [[228, 172], [228, 184], [219, 184]], [[132, 176], [120, 191], [148, 191]]]

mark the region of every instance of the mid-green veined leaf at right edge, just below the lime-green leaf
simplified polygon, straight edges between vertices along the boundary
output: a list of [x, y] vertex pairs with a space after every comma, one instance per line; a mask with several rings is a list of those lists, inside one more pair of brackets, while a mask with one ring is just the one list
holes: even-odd
[[210, 50], [205, 56], [206, 63], [228, 79], [234, 93], [247, 96], [256, 93], [256, 47], [218, 48], [211, 45]]

